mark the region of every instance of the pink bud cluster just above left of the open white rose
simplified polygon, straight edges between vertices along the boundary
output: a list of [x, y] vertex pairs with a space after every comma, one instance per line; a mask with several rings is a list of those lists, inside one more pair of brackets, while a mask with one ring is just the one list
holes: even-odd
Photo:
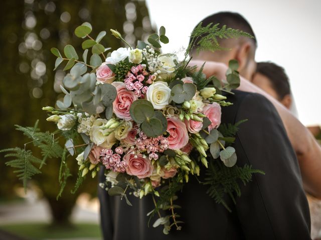
[[147, 86], [142, 83], [148, 72], [145, 70], [145, 66], [139, 64], [137, 66], [132, 66], [130, 71], [128, 71], [124, 82], [126, 84], [126, 89], [129, 91], [134, 91], [138, 97], [143, 97], [147, 91]]

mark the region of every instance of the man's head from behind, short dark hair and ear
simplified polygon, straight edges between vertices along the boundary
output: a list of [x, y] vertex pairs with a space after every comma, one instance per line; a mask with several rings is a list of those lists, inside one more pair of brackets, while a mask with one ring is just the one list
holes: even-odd
[[240, 65], [239, 72], [245, 78], [250, 79], [256, 69], [256, 63], [254, 59], [257, 43], [253, 29], [248, 21], [239, 13], [225, 11], [212, 14], [204, 18], [201, 22], [202, 26], [206, 26], [209, 23], [212, 23], [213, 25], [220, 23], [220, 27], [226, 25], [227, 27], [248, 32], [254, 36], [254, 38], [243, 36], [230, 39], [218, 38], [220, 46], [229, 48], [231, 50], [220, 50], [215, 52], [200, 51], [197, 54], [197, 45], [192, 49], [194, 59], [219, 61], [226, 64], [228, 64], [230, 59], [238, 60]]

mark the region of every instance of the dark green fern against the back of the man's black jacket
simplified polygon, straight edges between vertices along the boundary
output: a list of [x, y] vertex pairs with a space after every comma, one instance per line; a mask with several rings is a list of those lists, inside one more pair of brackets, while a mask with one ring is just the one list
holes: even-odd
[[233, 202], [236, 203], [235, 194], [237, 196], [241, 195], [239, 183], [242, 182], [246, 185], [252, 179], [252, 174], [254, 173], [264, 174], [261, 170], [253, 169], [251, 165], [226, 167], [222, 161], [213, 160], [206, 170], [204, 184], [209, 185], [207, 193], [215, 199], [216, 203], [221, 203], [226, 209], [232, 211], [226, 202], [225, 196], [230, 196]]

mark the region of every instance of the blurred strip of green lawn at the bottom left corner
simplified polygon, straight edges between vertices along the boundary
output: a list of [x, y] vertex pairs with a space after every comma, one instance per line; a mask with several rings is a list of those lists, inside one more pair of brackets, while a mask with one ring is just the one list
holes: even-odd
[[102, 239], [100, 226], [92, 223], [77, 223], [72, 227], [51, 226], [46, 223], [19, 223], [0, 225], [0, 229], [27, 239], [93, 238]]

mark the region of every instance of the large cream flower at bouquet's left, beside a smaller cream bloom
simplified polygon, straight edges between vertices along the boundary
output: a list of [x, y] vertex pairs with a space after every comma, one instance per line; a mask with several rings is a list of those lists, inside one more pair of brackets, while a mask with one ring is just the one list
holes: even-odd
[[97, 146], [111, 148], [116, 142], [115, 133], [110, 129], [103, 129], [103, 125], [107, 123], [106, 119], [97, 118], [90, 129], [90, 140]]

